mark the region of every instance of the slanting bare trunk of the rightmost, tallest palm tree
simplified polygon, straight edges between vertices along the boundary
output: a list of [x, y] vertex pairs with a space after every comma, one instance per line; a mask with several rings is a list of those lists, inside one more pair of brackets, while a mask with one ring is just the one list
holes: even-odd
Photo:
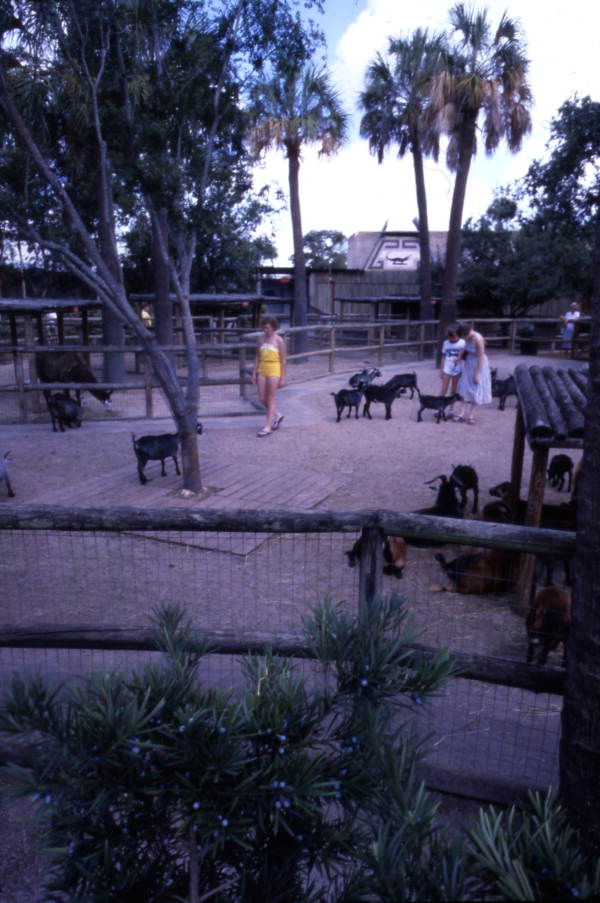
[[459, 136], [460, 147], [458, 151], [458, 166], [452, 192], [452, 206], [450, 208], [450, 222], [448, 224], [448, 238], [446, 240], [446, 260], [444, 266], [444, 282], [442, 287], [442, 304], [440, 308], [440, 322], [438, 326], [438, 344], [444, 341], [446, 329], [450, 323], [456, 321], [458, 309], [456, 304], [456, 287], [458, 284], [458, 265], [460, 263], [460, 243], [462, 230], [463, 208], [467, 193], [467, 181], [473, 149], [475, 146], [474, 117], [465, 116]]

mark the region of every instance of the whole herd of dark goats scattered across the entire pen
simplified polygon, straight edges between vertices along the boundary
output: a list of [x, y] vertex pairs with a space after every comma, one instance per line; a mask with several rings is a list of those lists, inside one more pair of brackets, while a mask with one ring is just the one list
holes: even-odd
[[[99, 401], [110, 407], [110, 390], [93, 385], [96, 383], [96, 378], [78, 353], [39, 352], [36, 355], [36, 366], [41, 382], [72, 382], [89, 385], [89, 391]], [[363, 402], [363, 416], [371, 418], [371, 405], [383, 404], [385, 418], [389, 420], [392, 416], [391, 409], [394, 399], [410, 391], [411, 399], [415, 392], [419, 397], [420, 407], [417, 421], [421, 422], [424, 411], [431, 410], [434, 412], [435, 420], [439, 423], [442, 419], [447, 419], [446, 409], [457, 399], [456, 395], [442, 397], [422, 394], [414, 372], [397, 374], [383, 384], [375, 383], [374, 380], [380, 376], [381, 373], [377, 368], [362, 370], [350, 378], [349, 389], [344, 388], [332, 393], [338, 422], [346, 408], [348, 409], [347, 417], [350, 417], [354, 411], [355, 417], [358, 418], [359, 407]], [[516, 395], [513, 377], [509, 376], [507, 379], [498, 380], [495, 372], [492, 371], [492, 394], [499, 399], [498, 407], [503, 410], [507, 397]], [[67, 428], [81, 426], [83, 409], [80, 390], [76, 391], [75, 398], [71, 397], [68, 390], [52, 392], [46, 389], [44, 396], [55, 432], [57, 428], [64, 432]], [[200, 423], [198, 423], [197, 430], [198, 433], [202, 432]], [[179, 474], [178, 447], [178, 433], [141, 436], [138, 439], [133, 436], [133, 448], [137, 459], [140, 483], [147, 482], [144, 468], [148, 461], [160, 461], [161, 473], [164, 476], [165, 460], [172, 458], [175, 470]], [[0, 455], [0, 484], [4, 483], [8, 495], [13, 497], [15, 493], [10, 481], [8, 461], [8, 453]], [[541, 526], [559, 530], [575, 530], [577, 478], [578, 471], [574, 472], [571, 457], [565, 454], [554, 455], [548, 468], [548, 480], [550, 485], [558, 491], [565, 487], [566, 481], [566, 491], [570, 493], [570, 498], [568, 502], [562, 504], [544, 504]], [[429, 480], [428, 483], [437, 490], [435, 503], [413, 513], [438, 517], [463, 517], [469, 492], [472, 493], [472, 513], [478, 512], [479, 479], [477, 472], [470, 465], [458, 465], [454, 467], [449, 477], [440, 475]], [[484, 505], [482, 509], [484, 520], [496, 523], [524, 523], [526, 503], [513, 497], [510, 483], [500, 483], [489, 491], [490, 495], [494, 497], [494, 501]], [[402, 576], [407, 545], [440, 547], [444, 544], [440, 541], [388, 536], [383, 543], [385, 573], [395, 577]], [[359, 561], [360, 553], [361, 540], [359, 539], [354, 547], [346, 552], [348, 563], [351, 566], [355, 566]], [[452, 584], [453, 591], [480, 594], [505, 591], [514, 582], [513, 573], [517, 554], [506, 549], [488, 549], [461, 555], [451, 561], [447, 561], [441, 552], [436, 553], [435, 557]], [[571, 619], [570, 568], [568, 560], [562, 562], [565, 586], [558, 586], [554, 583], [555, 564], [552, 556], [536, 556], [536, 572], [526, 622], [527, 661], [533, 662], [535, 659], [540, 665], [546, 662], [549, 652], [556, 649], [561, 643], [563, 645], [563, 664], [566, 655], [566, 640]], [[540, 584], [543, 585], [540, 587]]]

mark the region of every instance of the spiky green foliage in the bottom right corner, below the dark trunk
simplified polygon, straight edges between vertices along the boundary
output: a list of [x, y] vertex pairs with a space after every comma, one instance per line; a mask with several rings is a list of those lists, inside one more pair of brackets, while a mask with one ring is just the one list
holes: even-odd
[[481, 811], [470, 833], [477, 892], [502, 900], [589, 900], [600, 895], [600, 859], [586, 859], [556, 793], [529, 805]]

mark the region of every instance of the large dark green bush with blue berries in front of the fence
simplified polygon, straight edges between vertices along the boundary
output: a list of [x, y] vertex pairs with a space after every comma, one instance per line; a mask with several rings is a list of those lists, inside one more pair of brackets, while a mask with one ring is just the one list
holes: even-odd
[[307, 623], [317, 658], [333, 657], [316, 688], [270, 652], [244, 659], [240, 694], [203, 687], [207, 650], [173, 608], [155, 619], [160, 664], [53, 689], [15, 679], [0, 730], [38, 741], [14, 781], [45, 819], [53, 892], [308, 901], [314, 869], [340, 894], [350, 872], [364, 885], [392, 812], [394, 837], [429, 843], [436, 805], [412, 722], [453, 665], [408, 645], [399, 599], [361, 615], [327, 602]]

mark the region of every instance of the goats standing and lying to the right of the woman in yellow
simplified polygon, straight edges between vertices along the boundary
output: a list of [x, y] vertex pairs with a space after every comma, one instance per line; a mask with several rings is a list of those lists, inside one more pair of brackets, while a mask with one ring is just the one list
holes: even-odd
[[[384, 405], [385, 419], [389, 420], [392, 416], [391, 409], [394, 400], [410, 390], [411, 399], [415, 392], [419, 397], [417, 422], [422, 421], [424, 411], [431, 410], [434, 412], [436, 422], [440, 423], [441, 420], [447, 419], [447, 408], [460, 398], [456, 394], [448, 396], [422, 394], [414, 372], [396, 374], [383, 384], [375, 383], [374, 380], [380, 376], [381, 372], [376, 367], [364, 369], [350, 377], [351, 388], [331, 393], [335, 400], [337, 422], [340, 421], [346, 408], [348, 409], [347, 418], [352, 415], [352, 411], [354, 411], [355, 418], [358, 418], [361, 404], [363, 404], [363, 417], [370, 418], [370, 408], [374, 403]], [[510, 395], [516, 395], [513, 376], [499, 380], [496, 372], [492, 371], [492, 395], [498, 398], [498, 408], [504, 410], [506, 399]], [[575, 530], [578, 471], [574, 469], [573, 459], [570, 455], [558, 454], [552, 457], [548, 467], [548, 481], [559, 492], [565, 488], [570, 494], [570, 498], [568, 502], [562, 504], [544, 504], [541, 526], [557, 530]], [[453, 468], [449, 477], [442, 474], [429, 480], [428, 484], [437, 489], [435, 503], [427, 508], [414, 511], [414, 514], [463, 517], [469, 492], [473, 497], [472, 513], [478, 512], [479, 478], [474, 467], [460, 464]], [[494, 501], [484, 505], [482, 510], [484, 520], [514, 524], [525, 522], [526, 502], [513, 497], [510, 482], [499, 483], [497, 486], [493, 486], [489, 492], [494, 497]], [[362, 541], [358, 539], [353, 548], [346, 552], [348, 563], [352, 567], [360, 559], [361, 545]], [[402, 577], [407, 545], [439, 547], [443, 543], [424, 539], [404, 539], [399, 536], [385, 537], [383, 541], [384, 573]], [[481, 594], [502, 592], [514, 583], [513, 575], [517, 555], [518, 553], [507, 549], [488, 549], [461, 555], [451, 561], [447, 561], [441, 552], [436, 553], [435, 558], [450, 581], [454, 592]], [[568, 559], [562, 562], [565, 586], [558, 586], [554, 583], [555, 565], [556, 560], [551, 555], [536, 556], [531, 600], [526, 619], [528, 663], [535, 660], [537, 664], [545, 664], [548, 654], [561, 643], [563, 664], [565, 662], [566, 640], [571, 622], [570, 562]], [[543, 585], [540, 586], [540, 584]]]

